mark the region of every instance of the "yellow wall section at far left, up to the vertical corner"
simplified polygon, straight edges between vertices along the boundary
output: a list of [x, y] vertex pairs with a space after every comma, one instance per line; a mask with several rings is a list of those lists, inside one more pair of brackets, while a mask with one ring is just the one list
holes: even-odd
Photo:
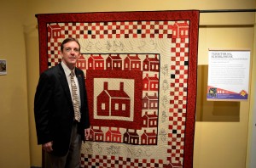
[[29, 167], [25, 5], [0, 5], [0, 59], [7, 59], [7, 76], [0, 76], [0, 167]]

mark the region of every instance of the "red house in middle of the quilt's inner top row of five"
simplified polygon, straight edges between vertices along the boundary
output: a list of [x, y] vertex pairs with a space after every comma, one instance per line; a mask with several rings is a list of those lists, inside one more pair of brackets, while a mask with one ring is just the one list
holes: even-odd
[[110, 54], [106, 59], [107, 70], [122, 70], [123, 59], [120, 58], [119, 54]]

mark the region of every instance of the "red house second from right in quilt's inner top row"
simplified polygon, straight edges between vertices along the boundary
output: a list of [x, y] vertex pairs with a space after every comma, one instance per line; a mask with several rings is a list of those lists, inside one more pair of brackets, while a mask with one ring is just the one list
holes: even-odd
[[124, 70], [141, 70], [141, 59], [136, 54], [135, 56], [128, 55], [124, 60]]

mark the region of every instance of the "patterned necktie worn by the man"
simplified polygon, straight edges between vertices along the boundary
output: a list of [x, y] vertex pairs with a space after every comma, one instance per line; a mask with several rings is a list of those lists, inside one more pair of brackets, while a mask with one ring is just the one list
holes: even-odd
[[79, 96], [77, 94], [77, 86], [73, 79], [74, 73], [71, 71], [70, 73], [70, 83], [71, 83], [71, 94], [72, 94], [72, 101], [73, 101], [73, 109], [74, 109], [74, 116], [75, 120], [78, 120], [80, 122], [80, 108], [79, 108]]

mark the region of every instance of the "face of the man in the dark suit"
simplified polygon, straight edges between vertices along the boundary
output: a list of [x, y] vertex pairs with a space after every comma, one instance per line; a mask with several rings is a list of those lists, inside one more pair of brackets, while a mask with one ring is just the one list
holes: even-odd
[[77, 42], [67, 42], [63, 47], [62, 60], [70, 70], [73, 70], [80, 55], [79, 44]]

